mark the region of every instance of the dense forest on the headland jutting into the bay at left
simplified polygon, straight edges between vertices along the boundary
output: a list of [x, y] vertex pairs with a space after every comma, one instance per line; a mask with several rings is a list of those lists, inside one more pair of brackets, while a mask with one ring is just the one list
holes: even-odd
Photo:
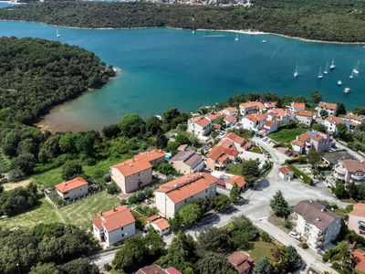
[[0, 38], [0, 121], [30, 124], [114, 76], [93, 53], [36, 38]]

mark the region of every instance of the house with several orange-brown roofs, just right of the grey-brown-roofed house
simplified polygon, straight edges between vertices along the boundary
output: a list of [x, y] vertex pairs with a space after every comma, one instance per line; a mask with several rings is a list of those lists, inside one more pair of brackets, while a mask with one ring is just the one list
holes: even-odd
[[205, 165], [210, 170], [224, 170], [229, 163], [237, 160], [238, 151], [235, 142], [229, 139], [222, 139], [206, 155]]

